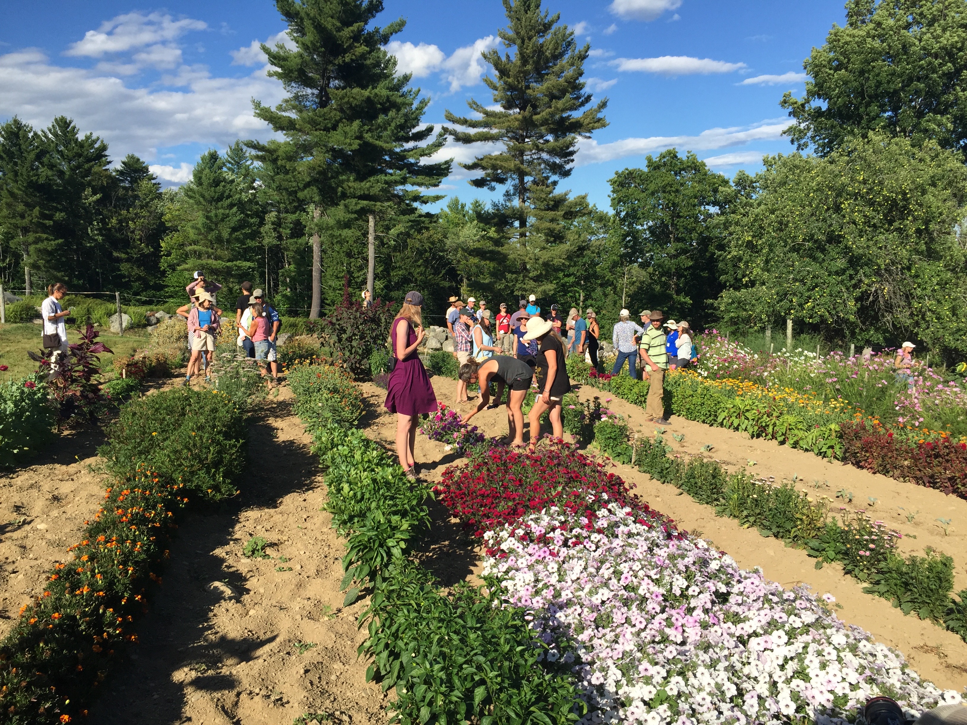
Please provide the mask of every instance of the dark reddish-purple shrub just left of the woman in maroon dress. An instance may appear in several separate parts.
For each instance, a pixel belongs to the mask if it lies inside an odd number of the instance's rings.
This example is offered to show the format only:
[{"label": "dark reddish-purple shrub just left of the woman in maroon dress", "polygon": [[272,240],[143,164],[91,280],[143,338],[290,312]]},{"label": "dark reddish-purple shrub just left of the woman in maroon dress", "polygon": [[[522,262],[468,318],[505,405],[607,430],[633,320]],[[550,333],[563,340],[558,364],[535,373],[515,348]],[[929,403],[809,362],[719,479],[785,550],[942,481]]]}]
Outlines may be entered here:
[{"label": "dark reddish-purple shrub just left of the woman in maroon dress", "polygon": [[357,378],[368,377],[369,356],[385,344],[395,310],[394,305],[380,300],[368,307],[339,304],[319,321],[319,334],[339,364]]}]

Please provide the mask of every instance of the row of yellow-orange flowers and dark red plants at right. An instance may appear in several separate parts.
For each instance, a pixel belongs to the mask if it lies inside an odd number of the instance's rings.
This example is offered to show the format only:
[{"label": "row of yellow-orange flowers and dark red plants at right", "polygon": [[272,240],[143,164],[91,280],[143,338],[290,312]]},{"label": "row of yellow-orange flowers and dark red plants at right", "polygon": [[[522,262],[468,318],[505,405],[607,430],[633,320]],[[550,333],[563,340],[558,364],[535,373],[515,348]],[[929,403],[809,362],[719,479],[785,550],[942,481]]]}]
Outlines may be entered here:
[{"label": "row of yellow-orange flowers and dark red plants at right", "polygon": [[[644,406],[648,381],[598,375],[571,359],[571,380]],[[872,473],[967,499],[967,443],[945,435],[923,438],[911,428],[888,428],[837,401],[775,391],[753,383],[710,380],[689,370],[665,377],[665,410],[687,420],[745,432],[835,458]]]}]

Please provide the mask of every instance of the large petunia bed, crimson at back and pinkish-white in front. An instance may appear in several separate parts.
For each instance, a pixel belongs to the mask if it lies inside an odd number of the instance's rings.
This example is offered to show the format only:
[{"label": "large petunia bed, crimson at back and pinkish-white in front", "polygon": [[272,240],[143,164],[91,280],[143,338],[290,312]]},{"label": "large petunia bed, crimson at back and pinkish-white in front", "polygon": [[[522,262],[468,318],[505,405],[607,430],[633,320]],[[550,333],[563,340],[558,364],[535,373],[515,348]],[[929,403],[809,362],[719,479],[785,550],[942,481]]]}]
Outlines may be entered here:
[{"label": "large petunia bed, crimson at back and pinkish-white in front", "polygon": [[484,572],[533,618],[543,661],[571,668],[582,722],[852,721],[875,694],[916,711],[960,701],[827,602],[677,530],[581,453],[491,449],[436,492],[483,536]]}]

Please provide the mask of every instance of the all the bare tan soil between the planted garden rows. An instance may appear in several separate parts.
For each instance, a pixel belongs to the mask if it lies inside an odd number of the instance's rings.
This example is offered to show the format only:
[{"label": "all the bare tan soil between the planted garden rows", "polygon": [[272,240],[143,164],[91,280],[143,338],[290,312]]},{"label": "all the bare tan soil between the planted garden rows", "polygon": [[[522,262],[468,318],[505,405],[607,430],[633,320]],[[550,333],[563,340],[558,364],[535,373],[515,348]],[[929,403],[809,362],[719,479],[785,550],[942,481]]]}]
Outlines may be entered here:
[{"label": "all the bare tan soil between the planted garden rows", "polygon": [[[450,404],[454,381],[434,378],[433,383],[438,398]],[[385,393],[368,384],[363,390],[369,406],[361,425],[392,448],[396,417],[382,407]],[[581,392],[593,394],[601,393]],[[654,433],[654,426],[644,425],[640,409],[618,399],[608,404],[641,433]],[[304,713],[344,723],[386,722],[386,696],[378,685],[366,683],[368,663],[357,656],[366,638],[365,629],[357,628],[366,600],[341,606],[344,549],[330,515],[320,510],[325,487],[291,405],[291,392],[282,388],[256,412],[241,495],[220,507],[195,511],[182,522],[161,587],[152,593],[149,614],[138,627],[140,643],[119,652],[120,661],[91,708],[91,722],[288,725]],[[507,432],[504,409],[484,411],[474,423],[487,435]],[[929,543],[951,554],[958,586],[964,586],[967,551],[964,535],[955,527],[959,522],[967,528],[967,502],[700,423],[675,419],[668,432],[685,435],[681,445],[670,435],[666,440],[686,453],[701,453],[702,446],[711,444],[714,448],[706,454],[730,470],[753,459],[751,470],[757,475],[777,480],[795,475],[810,495],[835,496],[836,490],[846,488],[854,493],[854,507],[867,496],[878,498],[874,511],[884,510],[888,523],[904,535],[917,536],[904,539],[904,547],[909,546],[905,550],[917,551]],[[67,556],[65,549],[83,521],[97,510],[102,477],[88,471],[87,464],[97,463],[94,449],[99,442],[96,433],[68,436],[51,449],[50,462],[0,478],[0,517],[17,521],[0,529],[0,556],[5,557],[0,604],[6,617],[16,616],[50,565]],[[416,452],[427,485],[459,462],[454,453],[423,436],[417,437]],[[617,466],[615,471],[645,501],[682,528],[700,532],[740,565],[761,566],[783,586],[805,583],[817,594],[834,594],[842,620],[903,652],[923,677],[945,688],[967,685],[967,645],[959,637],[903,616],[890,602],[863,594],[837,566],[816,570],[815,560],[804,552],[717,517],[711,507],[673,486],[630,467]],[[820,481],[819,489],[814,479]],[[829,489],[823,481],[829,481]],[[836,505],[847,504],[836,500]],[[900,506],[920,513],[909,524],[906,516],[886,515]],[[475,580],[481,567],[474,541],[443,507],[434,505],[431,513],[433,530],[418,556],[444,586]],[[938,517],[953,519],[950,536],[931,526]],[[47,529],[37,528],[44,523]],[[271,559],[242,555],[251,536],[269,540]],[[9,625],[9,619],[0,621],[0,627]]]}]

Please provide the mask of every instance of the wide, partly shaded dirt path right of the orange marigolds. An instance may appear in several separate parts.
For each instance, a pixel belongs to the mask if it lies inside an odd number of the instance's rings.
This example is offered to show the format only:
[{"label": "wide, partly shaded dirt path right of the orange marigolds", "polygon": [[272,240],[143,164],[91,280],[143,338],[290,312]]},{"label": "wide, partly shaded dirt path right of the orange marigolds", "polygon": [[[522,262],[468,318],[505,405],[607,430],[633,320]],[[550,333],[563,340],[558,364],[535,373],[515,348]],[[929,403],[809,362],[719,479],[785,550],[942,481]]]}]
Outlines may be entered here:
[{"label": "wide, partly shaded dirt path right of the orange marigolds", "polygon": [[[140,645],[116,663],[91,722],[386,721],[356,654],[364,603],[341,607],[343,547],[319,510],[317,458],[288,389],[269,400],[253,416],[242,494],[182,523]],[[242,556],[251,536],[269,540],[272,559]]]}]

